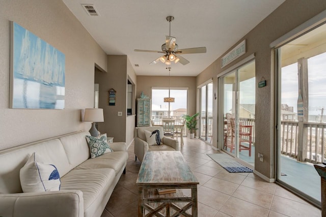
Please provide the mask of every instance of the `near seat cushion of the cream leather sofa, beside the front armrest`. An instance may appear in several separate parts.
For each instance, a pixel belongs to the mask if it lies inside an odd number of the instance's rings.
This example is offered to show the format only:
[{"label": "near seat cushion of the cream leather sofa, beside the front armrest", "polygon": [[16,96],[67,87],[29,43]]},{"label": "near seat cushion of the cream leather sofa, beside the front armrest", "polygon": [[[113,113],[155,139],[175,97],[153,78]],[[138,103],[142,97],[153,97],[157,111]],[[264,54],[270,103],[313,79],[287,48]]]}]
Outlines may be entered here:
[{"label": "near seat cushion of the cream leather sofa, beside the front armrest", "polygon": [[[61,190],[83,192],[84,213],[95,213],[98,204],[105,198],[108,188],[114,182],[113,169],[71,170],[61,178]],[[85,215],[87,216],[87,215]]]}]

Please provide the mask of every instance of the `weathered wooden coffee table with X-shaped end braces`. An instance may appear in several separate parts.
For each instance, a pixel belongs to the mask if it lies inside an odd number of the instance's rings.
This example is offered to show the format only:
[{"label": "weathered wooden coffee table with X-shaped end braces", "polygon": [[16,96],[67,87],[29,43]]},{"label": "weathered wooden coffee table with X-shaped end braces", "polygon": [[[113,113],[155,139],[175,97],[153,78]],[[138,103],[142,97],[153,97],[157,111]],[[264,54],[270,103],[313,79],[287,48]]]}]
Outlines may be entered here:
[{"label": "weathered wooden coffee table with X-shaped end braces", "polygon": [[[147,151],[139,170],[138,216],[198,216],[197,178],[188,167],[180,151]],[[157,189],[191,189],[191,197],[182,194],[147,194]],[[159,204],[153,207],[151,204]],[[180,203],[185,204],[179,207]],[[192,208],[192,214],[186,211]],[[145,210],[148,211],[145,215]],[[166,214],[161,211],[165,210]],[[170,215],[170,213],[173,213]]]}]

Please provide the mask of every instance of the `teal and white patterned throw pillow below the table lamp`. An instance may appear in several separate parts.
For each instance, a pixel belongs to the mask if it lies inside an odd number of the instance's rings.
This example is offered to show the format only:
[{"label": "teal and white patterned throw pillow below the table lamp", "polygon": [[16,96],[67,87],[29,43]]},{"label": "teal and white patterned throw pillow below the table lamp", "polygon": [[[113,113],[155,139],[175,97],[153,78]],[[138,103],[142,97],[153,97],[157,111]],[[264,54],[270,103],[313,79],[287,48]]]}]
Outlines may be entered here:
[{"label": "teal and white patterned throw pillow below the table lamp", "polygon": [[86,136],[86,140],[88,146],[90,146],[91,158],[97,158],[107,152],[113,152],[112,148],[107,144],[106,136],[102,136],[101,138]]}]

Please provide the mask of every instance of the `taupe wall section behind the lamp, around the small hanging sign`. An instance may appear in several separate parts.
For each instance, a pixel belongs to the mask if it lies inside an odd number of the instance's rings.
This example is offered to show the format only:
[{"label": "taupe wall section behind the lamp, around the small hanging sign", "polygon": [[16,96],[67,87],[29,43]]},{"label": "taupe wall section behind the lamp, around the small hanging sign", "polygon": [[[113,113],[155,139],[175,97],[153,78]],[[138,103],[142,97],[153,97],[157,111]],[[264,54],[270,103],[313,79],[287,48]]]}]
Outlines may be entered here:
[{"label": "taupe wall section behind the lamp, around the small hanging sign", "polygon": [[[98,124],[101,133],[114,137],[115,142],[129,145],[134,138],[134,115],[127,116],[127,81],[136,84],[135,75],[126,55],[107,55],[107,73],[96,73],[99,83],[99,108],[103,108],[104,122]],[[108,105],[108,90],[115,89],[116,105]],[[122,116],[118,116],[118,112]],[[130,130],[132,129],[132,130]]]}]

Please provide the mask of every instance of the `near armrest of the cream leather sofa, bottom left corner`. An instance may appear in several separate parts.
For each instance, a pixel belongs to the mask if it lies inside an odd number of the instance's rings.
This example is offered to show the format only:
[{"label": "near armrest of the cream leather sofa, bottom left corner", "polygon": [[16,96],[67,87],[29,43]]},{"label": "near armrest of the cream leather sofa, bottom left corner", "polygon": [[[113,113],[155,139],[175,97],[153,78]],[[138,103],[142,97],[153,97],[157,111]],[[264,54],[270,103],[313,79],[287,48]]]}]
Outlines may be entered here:
[{"label": "near armrest of the cream leather sofa, bottom left corner", "polygon": [[84,216],[79,190],[0,194],[0,204],[0,216]]}]

